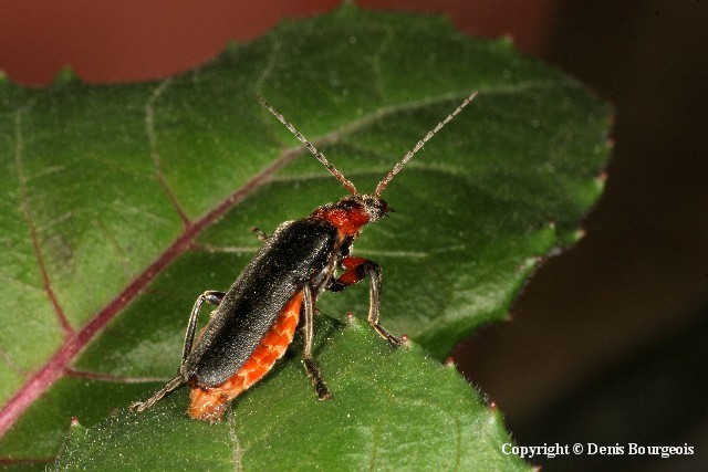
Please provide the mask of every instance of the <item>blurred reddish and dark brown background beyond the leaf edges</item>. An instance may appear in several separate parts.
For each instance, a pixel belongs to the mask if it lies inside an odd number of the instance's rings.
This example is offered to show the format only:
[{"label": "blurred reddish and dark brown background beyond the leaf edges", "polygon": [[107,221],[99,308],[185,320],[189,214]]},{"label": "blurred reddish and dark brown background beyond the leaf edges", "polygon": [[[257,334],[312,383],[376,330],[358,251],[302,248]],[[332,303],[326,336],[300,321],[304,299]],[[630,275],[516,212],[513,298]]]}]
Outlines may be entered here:
[{"label": "blurred reddish and dark brown background beyond the leaf edges", "polygon": [[[0,2],[0,70],[41,86],[66,64],[115,83],[170,75],[335,0]],[[510,34],[616,108],[586,235],[452,353],[520,444],[683,445],[693,457],[534,459],[543,470],[708,470],[708,4],[700,0],[360,0]]]}]

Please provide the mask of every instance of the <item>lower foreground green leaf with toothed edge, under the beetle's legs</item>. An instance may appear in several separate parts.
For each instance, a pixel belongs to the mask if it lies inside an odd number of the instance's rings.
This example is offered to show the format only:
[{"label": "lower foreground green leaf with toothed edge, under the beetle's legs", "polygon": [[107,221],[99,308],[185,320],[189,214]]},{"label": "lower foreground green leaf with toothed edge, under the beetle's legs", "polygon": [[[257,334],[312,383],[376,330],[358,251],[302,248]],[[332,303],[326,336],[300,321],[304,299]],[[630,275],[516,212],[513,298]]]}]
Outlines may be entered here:
[{"label": "lower foreground green leaf with toothed edge, under the beetle's legs", "polygon": [[73,428],[54,470],[529,469],[500,457],[509,442],[500,415],[455,367],[416,346],[394,349],[366,323],[342,328],[330,318],[317,328],[331,400],[317,401],[300,363],[289,361],[218,424],[185,417],[185,389],[144,415]]}]

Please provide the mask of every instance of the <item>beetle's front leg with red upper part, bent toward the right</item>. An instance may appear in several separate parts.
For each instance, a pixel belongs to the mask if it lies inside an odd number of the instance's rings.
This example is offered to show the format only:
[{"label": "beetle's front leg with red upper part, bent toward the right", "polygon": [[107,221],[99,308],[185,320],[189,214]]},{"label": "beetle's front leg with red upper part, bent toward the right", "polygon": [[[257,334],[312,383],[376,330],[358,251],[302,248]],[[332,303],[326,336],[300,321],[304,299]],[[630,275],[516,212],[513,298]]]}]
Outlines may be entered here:
[{"label": "beetle's front leg with red upper part, bent toward the right", "polygon": [[368,259],[348,256],[342,259],[342,266],[345,269],[345,272],[340,275],[332,285],[330,285],[330,290],[332,292],[341,292],[344,289],[361,282],[362,279],[368,275],[368,324],[372,325],[381,337],[387,339],[394,346],[400,346],[400,338],[391,334],[391,332],[383,327],[378,322],[382,286],[381,265],[374,261],[369,261]]}]

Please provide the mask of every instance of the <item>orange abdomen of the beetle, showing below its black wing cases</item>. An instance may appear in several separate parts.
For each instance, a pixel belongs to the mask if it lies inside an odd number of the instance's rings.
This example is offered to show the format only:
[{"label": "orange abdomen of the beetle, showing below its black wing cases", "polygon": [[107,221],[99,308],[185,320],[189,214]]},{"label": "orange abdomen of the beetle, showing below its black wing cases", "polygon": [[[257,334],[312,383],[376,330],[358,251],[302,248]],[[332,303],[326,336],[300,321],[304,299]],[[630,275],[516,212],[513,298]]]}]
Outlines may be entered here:
[{"label": "orange abdomen of the beetle, showing below its black wing cases", "polygon": [[219,421],[229,401],[238,397],[273,367],[292,342],[300,318],[302,292],[285,305],[251,357],[228,380],[217,387],[192,386],[189,416],[197,420]]}]

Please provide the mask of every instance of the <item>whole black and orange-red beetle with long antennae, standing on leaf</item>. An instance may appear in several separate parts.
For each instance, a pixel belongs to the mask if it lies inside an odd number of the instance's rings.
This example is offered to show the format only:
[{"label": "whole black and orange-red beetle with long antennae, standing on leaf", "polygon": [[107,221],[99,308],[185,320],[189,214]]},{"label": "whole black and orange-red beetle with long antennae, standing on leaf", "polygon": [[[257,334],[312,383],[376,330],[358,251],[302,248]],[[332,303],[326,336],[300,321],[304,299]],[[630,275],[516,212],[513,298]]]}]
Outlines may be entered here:
[{"label": "whole black and orange-red beetle with long antennae, standing on leaf", "polygon": [[[227,292],[207,291],[196,301],[183,348],[179,375],[146,401],[131,405],[144,411],[183,384],[190,387],[188,413],[219,421],[230,401],[260,380],[283,356],[304,314],[303,364],[321,400],[332,396],[312,355],[314,305],[324,291],[339,292],[369,280],[368,324],[393,346],[402,339],[379,323],[381,266],[351,255],[352,244],[368,223],[393,211],[382,192],[413,156],[477,95],[469,95],[429,130],[378,182],[373,195],[360,193],[312,143],[260,95],[258,99],[322,162],[350,195],[316,208],[309,217],[287,221],[272,235],[253,228],[263,245]],[[337,275],[341,271],[341,275]],[[201,306],[216,305],[196,336]],[[196,342],[195,342],[196,338]]]}]

